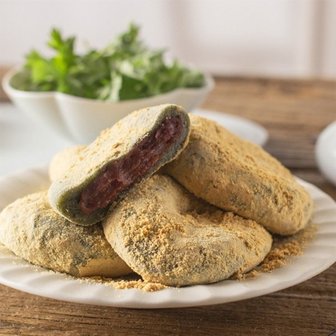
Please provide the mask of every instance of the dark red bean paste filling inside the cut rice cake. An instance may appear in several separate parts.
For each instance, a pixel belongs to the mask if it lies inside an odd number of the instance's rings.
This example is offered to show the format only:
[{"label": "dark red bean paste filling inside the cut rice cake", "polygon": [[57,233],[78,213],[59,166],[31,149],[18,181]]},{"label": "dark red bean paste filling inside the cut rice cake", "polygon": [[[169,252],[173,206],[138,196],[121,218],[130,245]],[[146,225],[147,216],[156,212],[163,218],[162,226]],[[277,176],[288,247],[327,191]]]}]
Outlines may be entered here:
[{"label": "dark red bean paste filling inside the cut rice cake", "polygon": [[179,116],[165,119],[124,158],[107,165],[82,191],[79,201],[81,211],[90,215],[112,203],[120,192],[126,190],[160,161],[181,136],[182,126]]}]

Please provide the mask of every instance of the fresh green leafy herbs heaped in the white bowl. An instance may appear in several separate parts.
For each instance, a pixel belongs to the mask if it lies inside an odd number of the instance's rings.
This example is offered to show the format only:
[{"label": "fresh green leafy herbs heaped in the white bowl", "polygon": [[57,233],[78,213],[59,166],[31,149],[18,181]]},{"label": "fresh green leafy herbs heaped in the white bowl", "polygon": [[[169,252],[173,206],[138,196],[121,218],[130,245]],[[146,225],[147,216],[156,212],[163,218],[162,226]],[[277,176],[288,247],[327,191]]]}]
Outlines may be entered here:
[{"label": "fresh green leafy herbs heaped in the white bowl", "polygon": [[176,88],[204,85],[204,76],[177,60],[165,61],[164,50],[148,48],[139,38],[139,27],[128,30],[102,50],[75,52],[75,37],[64,38],[52,29],[50,58],[32,50],[24,68],[11,81],[25,91],[59,91],[101,100],[129,100],[155,96]]}]

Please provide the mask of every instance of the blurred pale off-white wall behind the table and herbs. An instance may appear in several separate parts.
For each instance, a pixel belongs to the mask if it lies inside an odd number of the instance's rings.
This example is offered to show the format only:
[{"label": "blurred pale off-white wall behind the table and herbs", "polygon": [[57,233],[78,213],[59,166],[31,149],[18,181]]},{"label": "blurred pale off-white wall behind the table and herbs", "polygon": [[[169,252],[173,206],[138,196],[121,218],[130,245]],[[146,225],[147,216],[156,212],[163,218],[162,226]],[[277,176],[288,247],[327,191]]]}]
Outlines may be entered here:
[{"label": "blurred pale off-white wall behind the table and herbs", "polygon": [[44,50],[52,26],[85,49],[130,21],[150,46],[214,75],[336,77],[334,0],[0,0],[0,68]]}]

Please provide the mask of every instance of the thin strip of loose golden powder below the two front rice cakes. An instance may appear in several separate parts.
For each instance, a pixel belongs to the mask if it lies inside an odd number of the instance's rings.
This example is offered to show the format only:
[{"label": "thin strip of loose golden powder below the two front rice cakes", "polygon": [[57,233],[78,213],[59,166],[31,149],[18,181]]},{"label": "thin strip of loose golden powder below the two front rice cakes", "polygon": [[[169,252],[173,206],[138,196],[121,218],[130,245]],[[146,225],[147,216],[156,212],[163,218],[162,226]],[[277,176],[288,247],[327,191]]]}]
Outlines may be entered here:
[{"label": "thin strip of loose golden powder below the two front rice cakes", "polygon": [[115,289],[140,289],[145,292],[156,292],[168,288],[168,286],[160,283],[144,281],[137,274],[131,274],[116,279],[104,277],[81,278],[80,281],[90,284],[102,284],[105,286],[111,286]]}]

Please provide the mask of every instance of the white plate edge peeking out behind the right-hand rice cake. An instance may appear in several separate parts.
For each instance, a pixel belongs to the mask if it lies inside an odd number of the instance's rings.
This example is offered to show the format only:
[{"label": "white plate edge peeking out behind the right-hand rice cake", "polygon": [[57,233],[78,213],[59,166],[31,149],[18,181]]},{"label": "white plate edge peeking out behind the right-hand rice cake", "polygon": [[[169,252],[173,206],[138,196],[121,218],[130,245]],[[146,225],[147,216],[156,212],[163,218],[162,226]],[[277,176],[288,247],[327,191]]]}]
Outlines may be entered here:
[{"label": "white plate edge peeking out behind the right-hand rice cake", "polygon": [[268,139],[268,132],[266,129],[252,120],[234,116],[232,114],[204,109],[196,109],[193,113],[204,118],[212,119],[232,133],[257,145],[265,145]]}]

